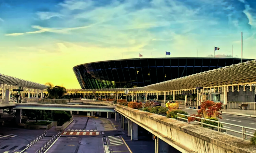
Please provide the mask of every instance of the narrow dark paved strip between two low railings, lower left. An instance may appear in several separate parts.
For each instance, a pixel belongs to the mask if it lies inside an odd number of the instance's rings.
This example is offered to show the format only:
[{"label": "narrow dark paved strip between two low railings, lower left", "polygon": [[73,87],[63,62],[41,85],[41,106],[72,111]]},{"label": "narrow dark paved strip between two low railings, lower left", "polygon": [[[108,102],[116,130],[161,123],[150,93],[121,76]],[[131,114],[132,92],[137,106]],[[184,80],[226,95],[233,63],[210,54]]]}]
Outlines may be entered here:
[{"label": "narrow dark paved strip between two low railings, lower left", "polygon": [[[43,130],[42,130],[43,132]],[[48,141],[52,136],[57,134],[58,131],[55,130],[55,126],[53,126],[51,129],[47,130],[47,134],[45,137],[43,137],[41,140],[37,141],[33,146],[31,146],[29,149],[27,149],[27,153],[35,153],[37,150],[42,147],[46,141]]]}]

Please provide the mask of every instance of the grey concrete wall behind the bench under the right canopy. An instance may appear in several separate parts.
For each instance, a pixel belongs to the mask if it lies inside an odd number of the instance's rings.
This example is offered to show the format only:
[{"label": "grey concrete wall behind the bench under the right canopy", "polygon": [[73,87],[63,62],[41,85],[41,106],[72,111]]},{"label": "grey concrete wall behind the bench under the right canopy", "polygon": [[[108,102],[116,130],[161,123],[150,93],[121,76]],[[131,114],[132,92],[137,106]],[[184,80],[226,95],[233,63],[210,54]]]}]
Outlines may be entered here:
[{"label": "grey concrete wall behind the bench under the right canopy", "polygon": [[252,87],[252,91],[246,89],[243,91],[243,86],[239,87],[239,92],[234,90],[234,92],[228,92],[229,102],[255,102],[255,88]]}]

